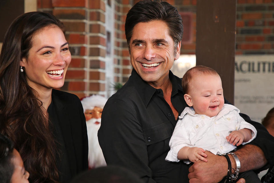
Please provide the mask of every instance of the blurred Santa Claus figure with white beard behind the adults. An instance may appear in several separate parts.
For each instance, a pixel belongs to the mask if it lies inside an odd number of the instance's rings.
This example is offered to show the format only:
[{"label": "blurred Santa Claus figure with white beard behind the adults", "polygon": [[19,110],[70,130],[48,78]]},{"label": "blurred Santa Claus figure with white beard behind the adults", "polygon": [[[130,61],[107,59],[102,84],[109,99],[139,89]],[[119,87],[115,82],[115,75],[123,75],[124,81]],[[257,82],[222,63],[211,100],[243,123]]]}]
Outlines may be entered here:
[{"label": "blurred Santa Claus figure with white beard behind the adults", "polygon": [[97,132],[101,125],[101,115],[107,99],[100,95],[92,95],[81,100],[86,117],[88,132],[88,166],[96,168],[106,166],[102,149],[100,148]]}]

